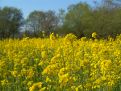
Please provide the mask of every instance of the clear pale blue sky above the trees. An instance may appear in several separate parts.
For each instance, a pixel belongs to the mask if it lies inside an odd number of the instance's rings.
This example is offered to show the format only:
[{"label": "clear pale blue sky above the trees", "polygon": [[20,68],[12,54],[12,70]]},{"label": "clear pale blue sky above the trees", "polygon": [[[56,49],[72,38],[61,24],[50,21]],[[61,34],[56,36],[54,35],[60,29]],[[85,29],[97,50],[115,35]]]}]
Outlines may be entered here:
[{"label": "clear pale blue sky above the trees", "polygon": [[0,0],[0,7],[9,6],[21,9],[23,16],[26,18],[34,10],[66,10],[71,4],[87,2],[93,4],[94,0]]}]

